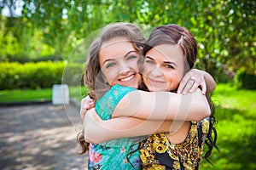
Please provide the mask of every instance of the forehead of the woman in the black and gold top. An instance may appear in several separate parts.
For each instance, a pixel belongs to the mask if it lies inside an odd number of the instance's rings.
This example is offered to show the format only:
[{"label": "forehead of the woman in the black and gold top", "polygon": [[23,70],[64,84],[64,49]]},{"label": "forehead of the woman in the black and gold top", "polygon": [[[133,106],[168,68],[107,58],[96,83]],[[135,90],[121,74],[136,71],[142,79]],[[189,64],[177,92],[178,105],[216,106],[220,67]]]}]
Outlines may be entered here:
[{"label": "forehead of the woman in the black and gold top", "polygon": [[159,61],[180,61],[183,62],[184,56],[176,44],[160,44],[151,48],[146,56]]}]

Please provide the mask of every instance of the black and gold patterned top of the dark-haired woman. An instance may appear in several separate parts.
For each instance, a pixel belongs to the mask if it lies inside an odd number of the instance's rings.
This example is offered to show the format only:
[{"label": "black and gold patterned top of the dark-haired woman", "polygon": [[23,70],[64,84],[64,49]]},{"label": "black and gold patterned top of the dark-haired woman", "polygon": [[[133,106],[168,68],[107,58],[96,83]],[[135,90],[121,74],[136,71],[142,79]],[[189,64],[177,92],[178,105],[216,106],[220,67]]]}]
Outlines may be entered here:
[{"label": "black and gold patterned top of the dark-haired woman", "polygon": [[180,144],[171,144],[165,133],[154,133],[141,144],[143,169],[198,169],[209,119],[191,122],[188,136]]}]

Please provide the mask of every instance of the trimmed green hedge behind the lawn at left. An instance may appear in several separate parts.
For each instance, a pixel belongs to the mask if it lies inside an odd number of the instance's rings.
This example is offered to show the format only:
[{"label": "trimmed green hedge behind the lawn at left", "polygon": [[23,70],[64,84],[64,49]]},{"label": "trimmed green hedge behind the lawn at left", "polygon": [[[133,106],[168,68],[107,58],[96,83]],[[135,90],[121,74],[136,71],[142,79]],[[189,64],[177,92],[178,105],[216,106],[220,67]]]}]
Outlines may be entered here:
[{"label": "trimmed green hedge behind the lawn at left", "polygon": [[[68,65],[69,70],[79,70],[83,65]],[[0,90],[16,88],[51,88],[60,84],[65,64],[63,61],[42,61],[20,64],[0,62]],[[77,80],[74,80],[77,81]],[[69,84],[77,82],[69,81]]]}]

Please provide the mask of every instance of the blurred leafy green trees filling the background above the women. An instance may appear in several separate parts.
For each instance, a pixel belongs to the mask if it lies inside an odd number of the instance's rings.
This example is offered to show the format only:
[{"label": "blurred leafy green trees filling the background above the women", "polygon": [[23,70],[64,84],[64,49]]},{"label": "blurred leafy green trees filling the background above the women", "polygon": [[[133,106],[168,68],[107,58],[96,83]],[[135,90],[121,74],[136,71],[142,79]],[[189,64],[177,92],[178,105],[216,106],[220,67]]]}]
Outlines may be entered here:
[{"label": "blurred leafy green trees filling the background above the women", "polygon": [[[15,14],[17,3],[21,14]],[[145,26],[175,23],[195,35],[197,68],[218,82],[234,76],[255,82],[256,21],[251,0],[3,0],[9,16],[0,17],[1,61],[67,59],[81,39],[108,23]],[[250,80],[250,81],[249,81]]]}]

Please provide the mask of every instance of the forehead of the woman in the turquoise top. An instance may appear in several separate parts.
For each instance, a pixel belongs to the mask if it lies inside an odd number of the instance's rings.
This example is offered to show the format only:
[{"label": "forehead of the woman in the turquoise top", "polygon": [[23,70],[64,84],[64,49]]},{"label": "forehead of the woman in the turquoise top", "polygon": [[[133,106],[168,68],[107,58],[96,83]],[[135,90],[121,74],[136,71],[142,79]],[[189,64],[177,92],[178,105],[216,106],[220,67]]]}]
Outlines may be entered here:
[{"label": "forehead of the woman in the turquoise top", "polygon": [[100,61],[106,59],[116,59],[124,56],[130,51],[135,51],[132,43],[125,37],[114,37],[107,42],[102,43],[99,56]]}]

